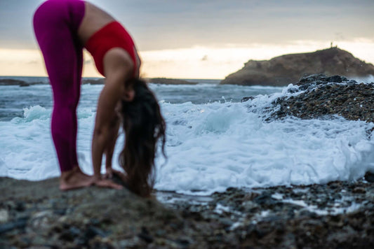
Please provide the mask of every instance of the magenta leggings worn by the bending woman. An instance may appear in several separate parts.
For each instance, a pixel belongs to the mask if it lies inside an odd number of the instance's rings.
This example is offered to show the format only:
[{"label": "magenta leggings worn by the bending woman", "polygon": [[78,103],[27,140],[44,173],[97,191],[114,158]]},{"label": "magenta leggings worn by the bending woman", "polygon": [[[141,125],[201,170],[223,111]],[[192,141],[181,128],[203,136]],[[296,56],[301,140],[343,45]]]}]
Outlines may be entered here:
[{"label": "magenta leggings worn by the bending woman", "polygon": [[61,171],[78,166],[76,106],[81,92],[83,46],[77,31],[84,1],[48,0],[34,14],[36,40],[53,90],[51,131]]}]

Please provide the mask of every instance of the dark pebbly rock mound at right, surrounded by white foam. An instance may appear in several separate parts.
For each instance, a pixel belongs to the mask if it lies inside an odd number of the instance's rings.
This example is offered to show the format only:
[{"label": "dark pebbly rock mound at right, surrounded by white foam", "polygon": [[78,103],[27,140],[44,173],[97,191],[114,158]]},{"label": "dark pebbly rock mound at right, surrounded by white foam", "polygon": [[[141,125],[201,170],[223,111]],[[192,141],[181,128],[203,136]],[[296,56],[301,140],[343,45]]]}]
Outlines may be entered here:
[{"label": "dark pebbly rock mound at right, surrounded by white foam", "polygon": [[274,106],[279,107],[274,117],[293,115],[310,119],[340,115],[347,120],[374,121],[374,83],[359,84],[342,76],[317,74],[301,78],[297,85],[300,87],[288,91],[303,91],[301,94],[274,101]]}]

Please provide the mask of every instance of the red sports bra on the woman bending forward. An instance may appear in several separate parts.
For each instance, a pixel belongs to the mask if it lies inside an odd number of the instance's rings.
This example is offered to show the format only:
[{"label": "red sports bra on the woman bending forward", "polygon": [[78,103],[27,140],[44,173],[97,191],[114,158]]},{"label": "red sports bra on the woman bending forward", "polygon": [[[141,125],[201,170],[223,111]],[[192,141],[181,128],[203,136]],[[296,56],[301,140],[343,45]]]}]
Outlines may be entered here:
[{"label": "red sports bra on the woman bending forward", "polygon": [[96,68],[104,76],[104,56],[112,48],[123,48],[128,52],[134,63],[134,76],[137,71],[137,62],[135,55],[135,45],[130,34],[119,22],[109,22],[101,29],[95,32],[85,45],[88,52],[95,60]]}]

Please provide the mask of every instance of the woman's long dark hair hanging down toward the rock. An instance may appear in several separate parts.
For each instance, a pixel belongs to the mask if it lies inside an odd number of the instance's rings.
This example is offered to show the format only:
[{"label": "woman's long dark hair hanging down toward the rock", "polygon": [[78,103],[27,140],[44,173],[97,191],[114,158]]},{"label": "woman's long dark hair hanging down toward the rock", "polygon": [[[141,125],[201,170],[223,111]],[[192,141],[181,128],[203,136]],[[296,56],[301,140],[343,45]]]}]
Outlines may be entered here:
[{"label": "woman's long dark hair hanging down toward the rock", "polygon": [[149,197],[154,185],[154,158],[157,142],[165,154],[166,123],[154,93],[143,80],[128,82],[135,90],[133,101],[122,101],[125,145],[119,155],[119,164],[126,171],[128,187],[142,197]]}]

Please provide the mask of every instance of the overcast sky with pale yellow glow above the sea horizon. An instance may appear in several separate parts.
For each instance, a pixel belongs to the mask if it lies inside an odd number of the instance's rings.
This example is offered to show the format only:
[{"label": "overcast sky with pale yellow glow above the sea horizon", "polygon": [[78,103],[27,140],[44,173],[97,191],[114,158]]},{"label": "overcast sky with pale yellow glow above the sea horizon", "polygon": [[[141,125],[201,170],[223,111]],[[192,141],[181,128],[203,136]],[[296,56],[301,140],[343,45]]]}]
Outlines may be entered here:
[{"label": "overcast sky with pale yellow glow above the sea horizon", "polygon": [[[32,32],[32,15],[42,2],[0,0],[0,75],[14,74],[4,66],[10,64],[9,60],[17,63],[14,57],[8,58],[15,52],[20,64],[29,60],[40,67],[39,74],[44,73],[41,59],[35,55],[38,47]],[[130,31],[147,76],[223,78],[248,59],[312,52],[328,48],[330,42],[374,62],[373,0],[91,2],[114,15]],[[23,57],[22,51],[26,52]],[[86,56],[86,62],[92,66],[91,57]],[[94,75],[93,71],[87,69],[86,76]],[[214,76],[215,71],[220,73]],[[25,69],[19,74],[30,73]]]}]

